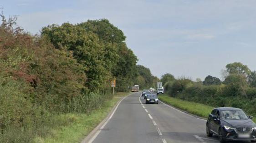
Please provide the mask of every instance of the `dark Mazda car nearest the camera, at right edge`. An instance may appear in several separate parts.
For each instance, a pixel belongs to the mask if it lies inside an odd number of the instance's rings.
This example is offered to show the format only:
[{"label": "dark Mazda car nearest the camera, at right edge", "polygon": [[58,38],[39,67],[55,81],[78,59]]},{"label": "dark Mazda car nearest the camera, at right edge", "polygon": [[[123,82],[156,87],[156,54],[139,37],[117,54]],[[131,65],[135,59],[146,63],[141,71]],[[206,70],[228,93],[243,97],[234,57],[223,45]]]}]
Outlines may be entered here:
[{"label": "dark Mazda car nearest the camera, at right edge", "polygon": [[212,110],[206,122],[206,134],[218,135],[220,143],[225,141],[256,142],[256,124],[239,108],[220,107]]}]

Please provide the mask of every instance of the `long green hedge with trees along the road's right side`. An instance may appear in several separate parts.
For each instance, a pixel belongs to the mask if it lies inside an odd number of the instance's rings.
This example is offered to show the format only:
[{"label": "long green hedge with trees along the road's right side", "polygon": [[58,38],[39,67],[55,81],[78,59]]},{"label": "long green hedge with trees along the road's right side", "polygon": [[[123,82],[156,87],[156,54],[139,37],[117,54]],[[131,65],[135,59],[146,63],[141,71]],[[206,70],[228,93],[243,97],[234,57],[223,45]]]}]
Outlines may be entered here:
[{"label": "long green hedge with trees along the road's right side", "polygon": [[[237,107],[246,111],[247,114],[256,116],[256,71],[251,71],[240,62],[227,64],[223,72],[224,81],[213,76],[205,77],[204,81],[181,77],[174,79],[171,74],[162,76],[165,93],[170,97],[208,105],[210,107]],[[166,98],[165,96],[160,98]],[[189,103],[190,103],[189,102]],[[195,114],[205,117],[206,113],[199,113],[197,105],[189,105]],[[173,103],[172,103],[173,104]],[[179,103],[178,103],[179,104]],[[181,107],[181,109],[187,107]],[[207,109],[207,108],[206,108]],[[202,110],[204,110],[202,108]]]}]

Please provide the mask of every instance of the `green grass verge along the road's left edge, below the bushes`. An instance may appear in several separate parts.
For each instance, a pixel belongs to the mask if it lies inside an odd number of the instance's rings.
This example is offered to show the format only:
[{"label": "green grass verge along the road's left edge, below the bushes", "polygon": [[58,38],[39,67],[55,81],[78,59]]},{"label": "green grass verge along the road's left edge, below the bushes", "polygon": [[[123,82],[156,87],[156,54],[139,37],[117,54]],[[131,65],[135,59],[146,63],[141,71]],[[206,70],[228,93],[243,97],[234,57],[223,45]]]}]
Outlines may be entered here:
[{"label": "green grass verge along the road's left edge, below the bushes", "polygon": [[46,138],[36,137],[36,143],[80,143],[103,119],[107,117],[114,105],[121,97],[129,93],[118,92],[112,100],[104,102],[100,109],[91,114],[60,114],[54,117],[54,121],[67,124],[51,130],[51,135]]}]

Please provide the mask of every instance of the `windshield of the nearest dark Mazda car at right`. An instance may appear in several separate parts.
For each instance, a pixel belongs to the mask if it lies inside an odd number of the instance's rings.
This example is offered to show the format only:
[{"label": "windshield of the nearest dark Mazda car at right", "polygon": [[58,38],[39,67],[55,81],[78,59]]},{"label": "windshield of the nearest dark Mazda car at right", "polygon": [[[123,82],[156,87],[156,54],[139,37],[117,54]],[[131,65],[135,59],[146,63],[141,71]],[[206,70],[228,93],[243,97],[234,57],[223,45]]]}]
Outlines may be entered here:
[{"label": "windshield of the nearest dark Mazda car at right", "polygon": [[222,119],[248,119],[242,110],[224,110],[221,111]]}]

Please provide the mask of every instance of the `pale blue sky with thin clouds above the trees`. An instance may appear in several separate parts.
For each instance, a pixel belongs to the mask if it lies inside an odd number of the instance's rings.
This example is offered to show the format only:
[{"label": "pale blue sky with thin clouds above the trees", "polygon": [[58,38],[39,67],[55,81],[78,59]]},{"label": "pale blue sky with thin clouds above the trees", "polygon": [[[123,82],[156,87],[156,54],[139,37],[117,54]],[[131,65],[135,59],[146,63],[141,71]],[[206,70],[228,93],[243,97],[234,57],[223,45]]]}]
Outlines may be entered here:
[{"label": "pale blue sky with thin clouds above the trees", "polygon": [[0,0],[5,16],[33,34],[48,24],[108,19],[159,78],[193,80],[232,62],[256,70],[256,0]]}]

